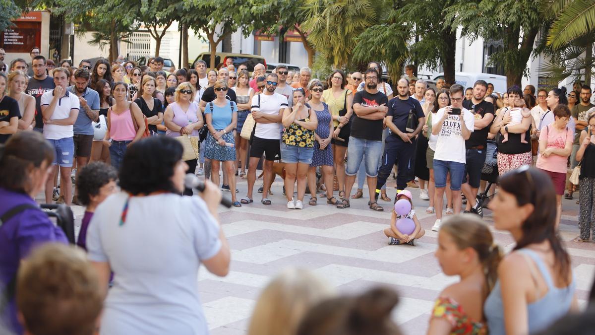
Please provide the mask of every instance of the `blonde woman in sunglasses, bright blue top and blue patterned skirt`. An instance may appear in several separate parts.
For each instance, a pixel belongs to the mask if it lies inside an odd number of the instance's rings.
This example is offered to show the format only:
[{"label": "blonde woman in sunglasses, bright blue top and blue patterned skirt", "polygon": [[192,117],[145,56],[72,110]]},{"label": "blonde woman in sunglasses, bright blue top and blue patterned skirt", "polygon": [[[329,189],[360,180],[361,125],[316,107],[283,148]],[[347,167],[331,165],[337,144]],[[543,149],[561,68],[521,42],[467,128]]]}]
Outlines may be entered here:
[{"label": "blonde woman in sunglasses, bright blue top and blue patterned skirt", "polygon": [[[211,159],[211,180],[219,185],[219,166],[223,162],[228,176],[235,176],[236,142],[234,132],[237,124],[237,106],[226,98],[227,81],[219,79],[213,86],[217,98],[206,104],[205,121],[209,134],[205,139],[205,158]],[[236,178],[229,178],[233,206],[242,207],[236,200]]]}]

